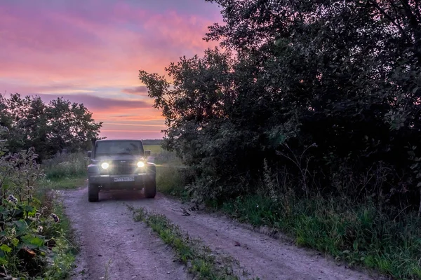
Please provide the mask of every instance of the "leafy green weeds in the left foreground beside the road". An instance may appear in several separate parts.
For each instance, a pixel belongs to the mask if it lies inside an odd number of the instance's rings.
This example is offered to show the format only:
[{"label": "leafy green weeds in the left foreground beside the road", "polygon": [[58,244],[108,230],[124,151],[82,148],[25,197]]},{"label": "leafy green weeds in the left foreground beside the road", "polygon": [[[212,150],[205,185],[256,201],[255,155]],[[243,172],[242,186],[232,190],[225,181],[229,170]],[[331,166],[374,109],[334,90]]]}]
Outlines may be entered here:
[{"label": "leafy green weeds in the left foreground beside the road", "polygon": [[34,148],[0,155],[0,275],[62,279],[72,263],[70,244],[56,208],[36,198],[44,178],[36,156]]}]

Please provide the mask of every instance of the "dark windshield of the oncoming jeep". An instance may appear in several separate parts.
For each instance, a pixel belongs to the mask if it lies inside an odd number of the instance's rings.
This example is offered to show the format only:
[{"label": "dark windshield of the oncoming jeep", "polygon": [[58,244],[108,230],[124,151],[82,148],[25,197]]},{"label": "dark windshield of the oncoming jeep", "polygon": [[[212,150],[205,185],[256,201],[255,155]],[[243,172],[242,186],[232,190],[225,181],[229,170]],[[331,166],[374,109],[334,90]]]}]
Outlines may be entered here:
[{"label": "dark windshield of the oncoming jeep", "polygon": [[143,155],[140,141],[101,141],[95,146],[95,157],[101,155]]}]

